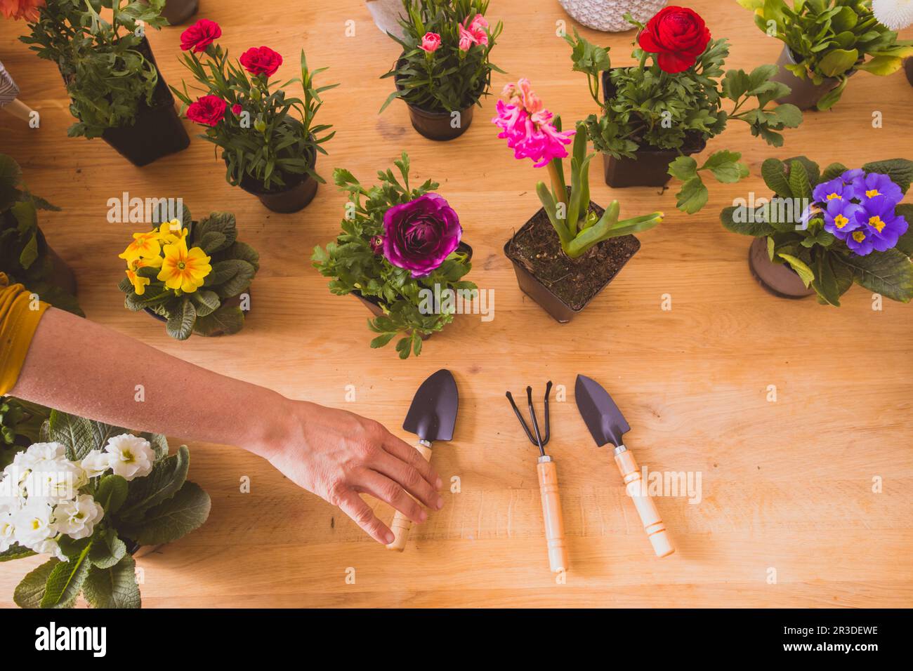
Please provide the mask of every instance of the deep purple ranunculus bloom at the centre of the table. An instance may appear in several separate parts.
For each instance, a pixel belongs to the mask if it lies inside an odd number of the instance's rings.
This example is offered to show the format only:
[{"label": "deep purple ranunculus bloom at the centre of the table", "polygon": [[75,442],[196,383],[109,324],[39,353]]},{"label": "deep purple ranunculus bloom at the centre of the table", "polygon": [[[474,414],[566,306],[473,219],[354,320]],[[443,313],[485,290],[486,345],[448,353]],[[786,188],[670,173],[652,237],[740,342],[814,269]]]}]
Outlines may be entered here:
[{"label": "deep purple ranunculus bloom at the centre of the table", "polygon": [[459,217],[438,194],[420,195],[383,214],[383,256],[414,278],[430,275],[459,245]]}]

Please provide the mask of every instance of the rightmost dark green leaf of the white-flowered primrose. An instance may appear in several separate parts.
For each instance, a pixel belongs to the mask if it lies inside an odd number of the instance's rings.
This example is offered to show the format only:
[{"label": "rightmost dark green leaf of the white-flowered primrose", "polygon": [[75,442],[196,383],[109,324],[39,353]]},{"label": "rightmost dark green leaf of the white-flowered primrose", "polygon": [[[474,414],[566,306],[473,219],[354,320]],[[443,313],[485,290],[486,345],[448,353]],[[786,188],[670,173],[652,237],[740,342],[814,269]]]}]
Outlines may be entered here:
[{"label": "rightmost dark green leaf of the white-flowered primrose", "polygon": [[172,498],[148,509],[142,522],[126,524],[123,532],[140,545],[170,543],[198,529],[209,517],[210,506],[209,495],[203,488],[185,482]]}]

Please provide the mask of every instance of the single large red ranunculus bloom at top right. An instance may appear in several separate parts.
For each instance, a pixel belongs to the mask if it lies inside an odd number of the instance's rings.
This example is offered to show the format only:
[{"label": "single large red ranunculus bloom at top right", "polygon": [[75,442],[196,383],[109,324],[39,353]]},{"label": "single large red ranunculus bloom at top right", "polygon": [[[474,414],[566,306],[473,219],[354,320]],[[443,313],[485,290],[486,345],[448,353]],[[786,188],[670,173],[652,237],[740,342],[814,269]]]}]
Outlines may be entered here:
[{"label": "single large red ranunculus bloom at top right", "polygon": [[670,73],[693,66],[709,41],[704,19],[692,9],[677,6],[659,11],[637,36],[640,47],[656,54],[659,68]]}]

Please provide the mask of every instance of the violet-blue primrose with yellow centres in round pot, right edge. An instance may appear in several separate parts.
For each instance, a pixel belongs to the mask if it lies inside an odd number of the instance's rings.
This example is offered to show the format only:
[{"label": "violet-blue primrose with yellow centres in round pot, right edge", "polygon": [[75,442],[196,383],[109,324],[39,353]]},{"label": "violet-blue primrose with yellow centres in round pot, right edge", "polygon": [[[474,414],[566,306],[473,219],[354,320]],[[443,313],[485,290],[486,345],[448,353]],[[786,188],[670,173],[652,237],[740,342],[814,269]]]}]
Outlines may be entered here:
[{"label": "violet-blue primrose with yellow centres in round pot, right edge", "polygon": [[913,298],[913,204],[901,200],[913,161],[892,159],[821,172],[804,156],[767,159],[761,173],[771,200],[727,207],[720,220],[753,236],[749,263],[763,288],[782,298],[817,294],[840,305],[859,284],[888,299]]}]

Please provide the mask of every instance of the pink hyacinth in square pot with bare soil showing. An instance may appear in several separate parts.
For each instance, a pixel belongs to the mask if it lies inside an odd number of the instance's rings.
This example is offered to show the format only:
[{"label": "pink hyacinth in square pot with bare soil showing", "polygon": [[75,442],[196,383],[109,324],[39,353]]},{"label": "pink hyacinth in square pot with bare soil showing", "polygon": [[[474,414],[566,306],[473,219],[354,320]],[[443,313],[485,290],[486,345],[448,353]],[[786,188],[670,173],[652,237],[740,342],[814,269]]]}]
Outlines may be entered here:
[{"label": "pink hyacinth in square pot with bare soil showing", "polygon": [[[498,100],[492,121],[507,138],[517,159],[529,158],[534,167],[548,166],[551,190],[536,184],[542,208],[522,225],[504,246],[504,254],[517,273],[519,288],[560,322],[572,320],[624,264],[635,255],[640,242],[632,234],[652,228],[663,215],[619,220],[613,201],[605,210],[590,200],[590,162],[582,122],[576,131],[561,131],[561,120],[544,109],[528,79],[508,84],[507,102]],[[561,159],[572,142],[571,184],[564,179]]]}]

